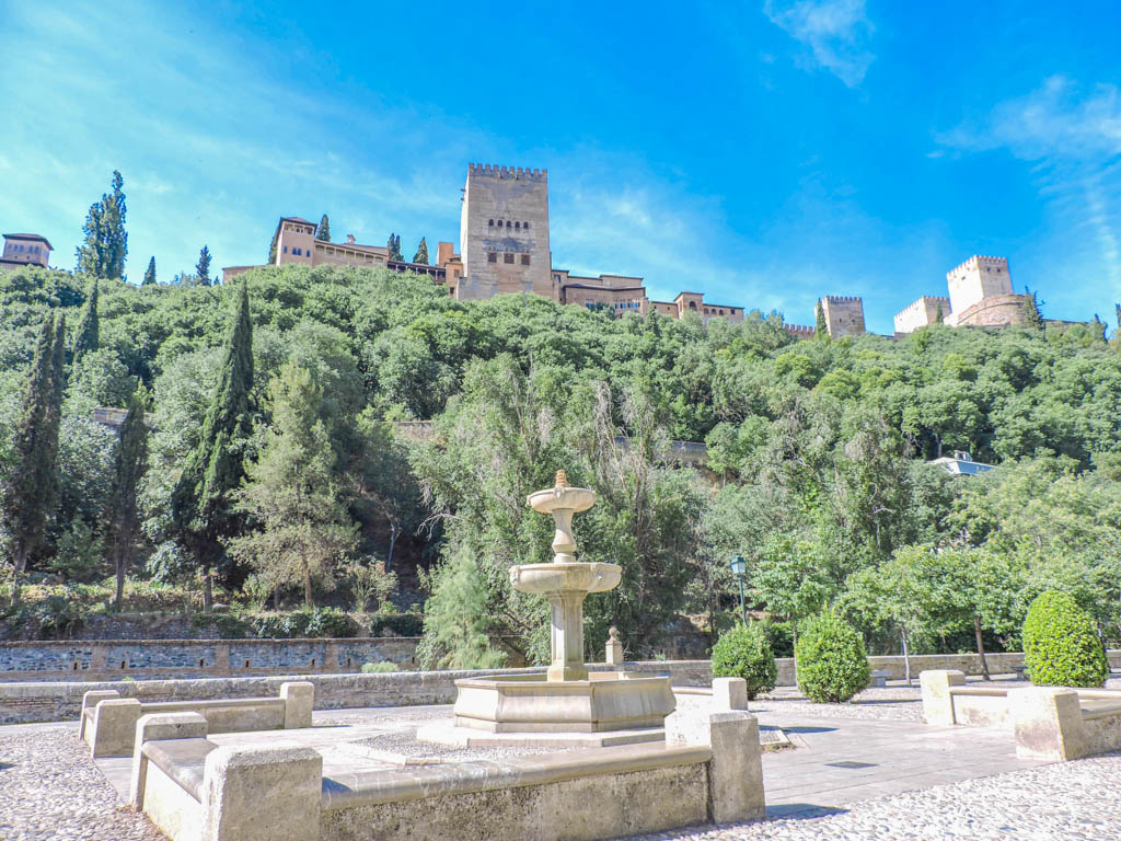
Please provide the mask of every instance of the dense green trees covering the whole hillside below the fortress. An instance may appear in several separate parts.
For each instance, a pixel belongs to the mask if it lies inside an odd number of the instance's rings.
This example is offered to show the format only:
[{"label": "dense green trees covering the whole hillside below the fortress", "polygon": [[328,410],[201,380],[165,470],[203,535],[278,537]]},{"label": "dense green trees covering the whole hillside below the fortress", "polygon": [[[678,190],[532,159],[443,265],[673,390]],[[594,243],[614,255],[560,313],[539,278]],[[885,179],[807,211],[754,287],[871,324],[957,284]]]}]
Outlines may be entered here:
[{"label": "dense green trees covering the whole hillside below the fortress", "polygon": [[[314,385],[296,437],[314,437],[330,521],[355,527],[312,576],[314,601],[427,598],[430,663],[547,658],[547,604],[512,591],[507,569],[548,558],[547,518],[525,498],[558,468],[600,497],[576,518],[580,554],[624,567],[586,602],[590,651],[614,625],[649,656],[683,616],[715,638],[736,612],[731,555],[749,562],[749,607],[788,623],[834,606],[877,651],[1018,646],[1046,589],[1118,636],[1121,354],[1100,327],[805,342],[777,314],[705,326],[532,295],[456,302],[386,270],[242,277],[244,297],[100,281],[99,346],[66,366],[58,495],[33,576],[111,571],[119,444],[91,413],[127,406],[139,379],[151,434],[130,569],[188,589],[211,571],[245,603],[302,600],[300,576],[270,582],[233,552],[272,530],[239,500],[271,481],[258,468],[285,414],[270,383],[295,366]],[[91,288],[36,267],[0,275],[4,428],[18,428],[37,333],[57,312],[76,324]],[[432,437],[399,424],[411,420],[430,420]],[[706,469],[679,466],[675,440],[707,444]],[[0,481],[15,481],[17,443],[0,440]],[[1000,469],[955,478],[925,463],[953,450]]]}]

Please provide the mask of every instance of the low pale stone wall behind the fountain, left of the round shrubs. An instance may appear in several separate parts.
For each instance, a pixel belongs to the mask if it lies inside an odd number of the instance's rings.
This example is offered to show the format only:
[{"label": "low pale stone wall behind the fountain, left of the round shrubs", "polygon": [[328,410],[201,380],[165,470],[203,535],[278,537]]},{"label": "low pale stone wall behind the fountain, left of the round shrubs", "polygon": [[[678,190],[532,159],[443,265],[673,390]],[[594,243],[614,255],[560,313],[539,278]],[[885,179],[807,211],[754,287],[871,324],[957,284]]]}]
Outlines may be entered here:
[{"label": "low pale stone wall behind the fountain, left of the round shrubs", "polygon": [[[604,664],[591,664],[606,671]],[[669,674],[675,685],[706,686],[711,682],[707,660],[652,660],[628,663],[629,672]],[[315,685],[315,706],[339,710],[358,706],[415,706],[455,701],[455,681],[493,674],[544,673],[539,668],[461,672],[391,672],[388,674],[299,675]],[[76,719],[82,695],[112,690],[121,697],[142,702],[260,697],[275,695],[280,684],[296,675],[172,681],[20,682],[0,683],[0,724]]]}]

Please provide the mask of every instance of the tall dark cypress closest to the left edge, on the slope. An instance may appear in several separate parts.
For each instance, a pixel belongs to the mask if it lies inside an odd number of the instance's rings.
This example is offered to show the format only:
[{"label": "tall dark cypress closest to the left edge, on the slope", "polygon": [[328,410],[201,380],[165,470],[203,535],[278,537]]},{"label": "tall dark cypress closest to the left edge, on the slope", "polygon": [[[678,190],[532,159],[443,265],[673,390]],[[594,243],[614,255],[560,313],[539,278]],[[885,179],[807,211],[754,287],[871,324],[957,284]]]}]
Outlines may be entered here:
[{"label": "tall dark cypress closest to the left edge, on the slope", "polygon": [[[28,560],[43,544],[47,521],[58,505],[58,419],[62,390],[56,385],[61,367],[56,345],[59,325],[45,318],[35,346],[35,359],[24,389],[22,409],[12,441],[13,463],[0,488],[0,515],[11,539],[12,604]],[[64,348],[65,345],[63,345]],[[62,350],[59,348],[58,350]]]}]

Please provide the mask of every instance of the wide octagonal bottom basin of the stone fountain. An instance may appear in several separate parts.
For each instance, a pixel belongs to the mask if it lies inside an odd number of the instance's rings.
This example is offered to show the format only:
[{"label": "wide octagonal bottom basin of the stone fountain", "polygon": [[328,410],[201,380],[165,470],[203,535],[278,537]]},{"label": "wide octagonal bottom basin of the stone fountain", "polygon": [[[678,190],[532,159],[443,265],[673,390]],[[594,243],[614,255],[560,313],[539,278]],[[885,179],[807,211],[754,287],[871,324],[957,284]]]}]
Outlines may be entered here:
[{"label": "wide octagonal bottom basin of the stone fountain", "polygon": [[592,672],[583,681],[494,675],[462,678],[455,686],[455,726],[492,733],[661,728],[676,706],[668,675]]}]

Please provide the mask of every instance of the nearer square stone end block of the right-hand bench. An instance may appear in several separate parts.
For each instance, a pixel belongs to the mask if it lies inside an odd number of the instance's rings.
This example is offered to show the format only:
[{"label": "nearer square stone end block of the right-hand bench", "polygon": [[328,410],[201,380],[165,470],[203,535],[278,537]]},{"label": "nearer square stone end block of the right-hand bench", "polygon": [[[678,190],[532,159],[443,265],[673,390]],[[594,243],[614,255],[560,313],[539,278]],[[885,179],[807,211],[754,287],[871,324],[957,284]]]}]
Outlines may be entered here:
[{"label": "nearer square stone end block of the right-hand bench", "polygon": [[1090,746],[1078,693],[1059,686],[1008,691],[1008,717],[1016,734],[1016,755],[1063,761],[1087,756]]}]

